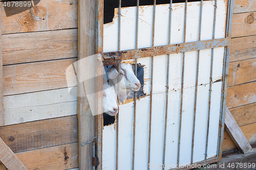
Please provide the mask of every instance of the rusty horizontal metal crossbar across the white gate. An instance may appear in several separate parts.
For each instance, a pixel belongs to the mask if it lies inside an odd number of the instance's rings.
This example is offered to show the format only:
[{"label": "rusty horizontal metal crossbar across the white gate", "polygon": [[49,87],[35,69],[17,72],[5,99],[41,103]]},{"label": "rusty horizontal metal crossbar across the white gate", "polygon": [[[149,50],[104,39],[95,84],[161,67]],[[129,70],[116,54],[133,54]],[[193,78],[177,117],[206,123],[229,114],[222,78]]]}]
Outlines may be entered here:
[{"label": "rusty horizontal metal crossbar across the white gate", "polygon": [[102,53],[103,59],[111,59],[114,58],[115,55],[120,55],[120,60],[129,60],[134,58],[142,58],[142,57],[151,57],[151,56],[160,56],[166,54],[175,54],[182,52],[189,52],[195,50],[204,50],[207,48],[216,48],[227,46],[230,43],[230,39],[228,38],[220,38],[220,39],[212,39],[205,41],[196,41],[196,42],[186,42],[179,44],[170,44],[163,46],[153,46],[147,48],[139,48],[135,50],[126,50],[126,51],[117,51],[117,52],[109,52]]}]

